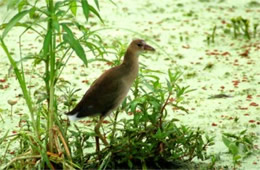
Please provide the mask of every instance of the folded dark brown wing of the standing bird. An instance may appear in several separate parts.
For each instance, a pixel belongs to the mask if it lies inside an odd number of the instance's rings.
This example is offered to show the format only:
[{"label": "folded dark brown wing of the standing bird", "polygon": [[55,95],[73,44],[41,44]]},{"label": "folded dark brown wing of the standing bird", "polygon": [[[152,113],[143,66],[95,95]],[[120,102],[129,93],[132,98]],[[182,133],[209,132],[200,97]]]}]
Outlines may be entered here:
[{"label": "folded dark brown wing of the standing bird", "polygon": [[117,104],[122,81],[117,70],[106,72],[88,89],[78,105],[73,109],[77,117],[105,114]]}]

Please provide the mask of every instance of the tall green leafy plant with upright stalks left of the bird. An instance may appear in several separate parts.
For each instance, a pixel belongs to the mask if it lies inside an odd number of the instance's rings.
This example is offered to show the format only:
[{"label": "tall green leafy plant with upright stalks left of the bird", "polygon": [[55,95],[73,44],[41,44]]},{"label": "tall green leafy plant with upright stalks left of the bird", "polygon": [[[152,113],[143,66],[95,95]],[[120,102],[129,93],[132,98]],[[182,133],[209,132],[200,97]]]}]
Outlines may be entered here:
[{"label": "tall green leafy plant with upright stalks left of the bird", "polygon": [[[96,15],[101,22],[102,18],[98,13],[99,2],[95,0],[95,6],[92,6],[88,3],[87,0],[64,0],[64,1],[54,1],[46,0],[45,4],[40,3],[39,0],[35,1],[16,1],[17,3],[10,3],[14,8],[18,9],[18,13],[12,17],[12,19],[1,25],[4,28],[3,33],[0,37],[0,45],[3,48],[6,56],[9,59],[9,62],[15,72],[15,75],[18,79],[20,88],[22,90],[24,99],[26,101],[28,110],[30,112],[32,131],[34,135],[26,134],[24,140],[28,140],[32,149],[32,156],[18,156],[19,159],[37,159],[38,154],[42,157],[42,162],[40,163],[42,168],[44,165],[47,165],[49,168],[54,168],[52,158],[57,158],[57,154],[64,150],[66,158],[70,160],[70,149],[67,145],[67,139],[65,136],[65,131],[61,127],[60,119],[57,116],[57,98],[55,95],[56,84],[59,80],[59,76],[62,74],[66,63],[71,57],[72,53],[75,52],[77,56],[82,60],[84,65],[87,67],[88,60],[85,55],[85,51],[81,46],[80,40],[77,39],[71,31],[70,26],[76,25],[80,31],[82,31],[83,38],[91,37],[94,34],[90,31],[86,32],[83,25],[74,21],[68,21],[67,18],[72,14],[73,16],[77,15],[78,7],[81,7],[83,14],[86,18],[86,21],[89,20],[89,15],[93,13]],[[26,20],[24,20],[26,18]],[[47,21],[47,24],[46,24]],[[46,26],[45,26],[46,25]],[[41,130],[42,123],[40,122],[40,113],[41,110],[36,101],[28,91],[26,75],[24,72],[23,66],[23,56],[21,57],[21,64],[19,65],[15,61],[14,57],[11,55],[8,46],[5,43],[7,34],[12,33],[12,29],[15,26],[24,27],[25,31],[34,31],[36,34],[42,38],[42,48],[39,50],[39,54],[33,60],[37,60],[37,63],[43,63],[45,65],[45,73],[42,76],[42,79],[45,83],[45,100],[47,101],[47,110],[46,110],[46,127],[47,131],[43,133]],[[40,31],[38,31],[41,29]],[[94,51],[95,48],[99,48],[100,44],[95,44],[102,40],[98,35],[91,37],[91,39],[98,39],[98,41],[86,42],[87,47]],[[90,40],[91,40],[90,39]],[[61,40],[61,41],[57,41]],[[21,43],[21,42],[20,42]],[[20,49],[22,50],[22,49]],[[101,50],[99,50],[101,52]],[[22,54],[20,52],[20,54]],[[61,146],[63,146],[61,148]],[[18,160],[19,160],[18,159]],[[17,160],[17,158],[15,159]],[[8,165],[9,166],[9,165]]]}]

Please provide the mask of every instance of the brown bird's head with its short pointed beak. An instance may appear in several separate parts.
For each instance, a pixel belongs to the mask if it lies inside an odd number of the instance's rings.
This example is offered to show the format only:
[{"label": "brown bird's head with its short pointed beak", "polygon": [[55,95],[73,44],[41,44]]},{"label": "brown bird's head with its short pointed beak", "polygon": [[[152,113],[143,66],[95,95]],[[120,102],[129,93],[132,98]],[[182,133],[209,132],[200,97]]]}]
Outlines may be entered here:
[{"label": "brown bird's head with its short pointed beak", "polygon": [[141,39],[133,40],[129,46],[129,49],[136,54],[140,54],[144,51],[155,51],[153,47],[151,47],[144,40]]}]

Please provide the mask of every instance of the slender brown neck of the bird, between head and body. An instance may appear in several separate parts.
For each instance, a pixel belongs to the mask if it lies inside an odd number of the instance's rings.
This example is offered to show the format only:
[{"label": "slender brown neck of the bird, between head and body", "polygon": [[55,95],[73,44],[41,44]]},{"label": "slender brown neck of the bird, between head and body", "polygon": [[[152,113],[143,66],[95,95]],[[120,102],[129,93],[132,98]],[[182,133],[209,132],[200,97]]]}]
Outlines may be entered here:
[{"label": "slender brown neck of the bird, between head and body", "polygon": [[122,64],[128,67],[129,69],[138,69],[138,56],[139,54],[137,54],[136,52],[127,49]]}]

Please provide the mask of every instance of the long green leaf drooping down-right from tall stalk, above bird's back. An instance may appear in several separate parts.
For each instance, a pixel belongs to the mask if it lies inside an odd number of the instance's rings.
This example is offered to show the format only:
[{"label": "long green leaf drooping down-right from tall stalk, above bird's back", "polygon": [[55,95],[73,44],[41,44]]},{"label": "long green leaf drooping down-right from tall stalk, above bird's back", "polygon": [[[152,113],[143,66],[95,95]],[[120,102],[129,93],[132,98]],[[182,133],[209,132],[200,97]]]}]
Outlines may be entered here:
[{"label": "long green leaf drooping down-right from tall stalk, above bird's back", "polygon": [[63,34],[64,41],[69,43],[69,45],[76,52],[78,57],[83,61],[83,63],[86,66],[88,66],[88,61],[87,61],[85,51],[80,45],[79,41],[74,38],[72,31],[69,29],[69,27],[66,24],[62,24],[62,27],[66,32],[66,34]]}]

